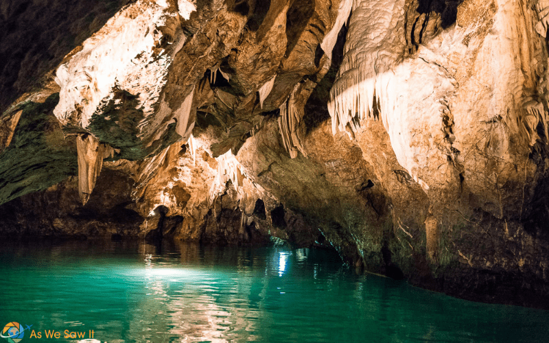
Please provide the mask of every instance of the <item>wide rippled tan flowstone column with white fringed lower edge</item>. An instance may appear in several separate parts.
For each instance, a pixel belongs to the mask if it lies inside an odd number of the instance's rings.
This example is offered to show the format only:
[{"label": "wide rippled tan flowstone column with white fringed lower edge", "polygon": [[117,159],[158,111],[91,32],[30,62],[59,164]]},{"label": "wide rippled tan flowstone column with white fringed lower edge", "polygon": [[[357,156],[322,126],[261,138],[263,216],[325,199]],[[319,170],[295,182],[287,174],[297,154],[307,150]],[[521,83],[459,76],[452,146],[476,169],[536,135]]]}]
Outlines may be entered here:
[{"label": "wide rippled tan flowstone column with white fringed lower edge", "polygon": [[397,19],[393,15],[403,5],[404,1],[395,1],[393,6],[355,1],[344,48],[346,58],[328,102],[334,134],[340,130],[353,137],[360,120],[373,117],[375,97],[386,95],[388,80],[380,80],[381,75],[396,66],[403,55],[402,44],[395,38]]}]

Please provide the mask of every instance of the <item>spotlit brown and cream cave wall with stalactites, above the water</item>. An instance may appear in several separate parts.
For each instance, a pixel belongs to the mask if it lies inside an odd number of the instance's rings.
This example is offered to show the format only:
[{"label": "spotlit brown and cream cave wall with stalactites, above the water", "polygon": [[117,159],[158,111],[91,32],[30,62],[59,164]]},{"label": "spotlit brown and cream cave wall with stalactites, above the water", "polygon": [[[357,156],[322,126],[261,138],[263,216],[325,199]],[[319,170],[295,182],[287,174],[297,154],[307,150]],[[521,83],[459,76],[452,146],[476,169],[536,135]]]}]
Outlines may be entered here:
[{"label": "spotlit brown and cream cave wall with stalactites, above the water", "polygon": [[[71,213],[110,223],[93,199],[124,178],[130,191],[107,207],[134,228],[84,235],[270,237],[548,307],[547,8],[132,1],[40,88],[12,90],[28,93],[0,118],[0,211],[15,213],[3,230],[75,234]],[[25,194],[73,199],[77,170],[89,201],[60,200],[33,233],[16,213],[40,217],[43,200]]]}]

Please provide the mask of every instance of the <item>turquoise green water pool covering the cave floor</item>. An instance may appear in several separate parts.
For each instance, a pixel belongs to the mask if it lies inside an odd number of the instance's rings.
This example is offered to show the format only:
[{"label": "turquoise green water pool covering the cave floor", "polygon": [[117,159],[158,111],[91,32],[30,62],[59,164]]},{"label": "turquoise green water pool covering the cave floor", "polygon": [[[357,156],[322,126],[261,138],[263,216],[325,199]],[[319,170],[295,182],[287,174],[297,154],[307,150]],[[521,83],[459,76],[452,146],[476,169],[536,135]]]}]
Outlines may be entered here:
[{"label": "turquoise green water pool covering the cave floor", "polygon": [[[320,250],[4,245],[0,325],[101,342],[549,342],[549,311],[471,303]],[[0,328],[1,329],[1,328]],[[3,340],[3,339],[0,339]]]}]

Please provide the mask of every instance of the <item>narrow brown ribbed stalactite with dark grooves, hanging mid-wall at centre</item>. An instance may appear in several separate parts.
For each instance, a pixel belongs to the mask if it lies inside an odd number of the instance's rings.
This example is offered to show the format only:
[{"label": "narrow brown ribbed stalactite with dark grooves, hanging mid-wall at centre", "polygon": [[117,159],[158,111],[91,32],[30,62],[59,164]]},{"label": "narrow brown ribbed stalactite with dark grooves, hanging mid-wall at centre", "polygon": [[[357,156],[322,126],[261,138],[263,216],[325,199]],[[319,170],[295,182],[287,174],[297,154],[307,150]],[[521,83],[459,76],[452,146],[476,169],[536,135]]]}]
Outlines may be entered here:
[{"label": "narrow brown ribbed stalactite with dark grooves, hanging mid-wall at centre", "polygon": [[303,118],[303,109],[299,110],[296,106],[296,93],[299,91],[300,84],[294,86],[294,90],[290,97],[280,107],[279,129],[282,136],[282,141],[286,151],[290,153],[291,158],[297,157],[297,152],[300,151],[303,156],[307,157],[307,153],[301,143],[299,137],[299,124]]}]

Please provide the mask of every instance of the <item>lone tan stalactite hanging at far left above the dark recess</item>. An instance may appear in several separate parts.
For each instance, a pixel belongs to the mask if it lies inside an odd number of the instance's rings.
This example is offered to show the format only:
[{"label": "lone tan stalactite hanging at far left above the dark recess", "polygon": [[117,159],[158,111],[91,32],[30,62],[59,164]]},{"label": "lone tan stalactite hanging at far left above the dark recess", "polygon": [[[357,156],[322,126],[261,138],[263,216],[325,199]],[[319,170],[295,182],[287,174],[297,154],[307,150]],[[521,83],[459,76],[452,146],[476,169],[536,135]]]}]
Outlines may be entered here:
[{"label": "lone tan stalactite hanging at far left above the dark recess", "polygon": [[78,193],[82,204],[88,202],[97,176],[103,167],[103,158],[112,154],[112,148],[101,144],[91,134],[80,134],[76,138],[78,151]]}]

